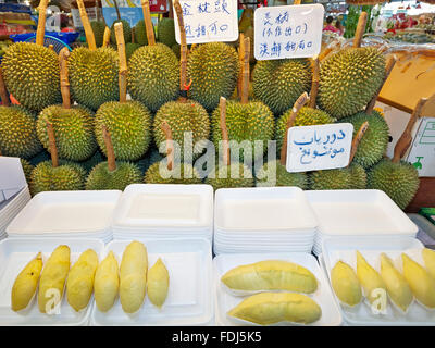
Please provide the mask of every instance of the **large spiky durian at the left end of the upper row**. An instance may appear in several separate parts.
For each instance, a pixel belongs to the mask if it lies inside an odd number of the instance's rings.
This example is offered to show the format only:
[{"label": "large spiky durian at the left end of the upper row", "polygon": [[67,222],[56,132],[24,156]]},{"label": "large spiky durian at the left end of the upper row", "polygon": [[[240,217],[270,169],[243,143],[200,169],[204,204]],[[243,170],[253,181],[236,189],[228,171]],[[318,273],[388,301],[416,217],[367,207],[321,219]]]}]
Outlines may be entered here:
[{"label": "large spiky durian at the left end of the upper row", "polygon": [[7,88],[21,105],[39,112],[62,101],[58,54],[47,47],[11,45],[1,66]]}]

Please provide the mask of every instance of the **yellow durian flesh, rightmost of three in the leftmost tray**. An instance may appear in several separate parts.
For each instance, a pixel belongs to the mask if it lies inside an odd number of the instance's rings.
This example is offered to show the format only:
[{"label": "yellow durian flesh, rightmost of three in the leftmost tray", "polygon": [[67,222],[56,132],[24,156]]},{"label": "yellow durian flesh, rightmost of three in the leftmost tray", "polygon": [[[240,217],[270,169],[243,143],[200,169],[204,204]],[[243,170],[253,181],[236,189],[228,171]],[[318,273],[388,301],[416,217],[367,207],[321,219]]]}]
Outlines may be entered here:
[{"label": "yellow durian flesh, rightmost of three in the leftmost tray", "polygon": [[98,256],[92,249],[84,251],[73,264],[66,281],[66,298],[77,312],[85,309],[92,296]]}]

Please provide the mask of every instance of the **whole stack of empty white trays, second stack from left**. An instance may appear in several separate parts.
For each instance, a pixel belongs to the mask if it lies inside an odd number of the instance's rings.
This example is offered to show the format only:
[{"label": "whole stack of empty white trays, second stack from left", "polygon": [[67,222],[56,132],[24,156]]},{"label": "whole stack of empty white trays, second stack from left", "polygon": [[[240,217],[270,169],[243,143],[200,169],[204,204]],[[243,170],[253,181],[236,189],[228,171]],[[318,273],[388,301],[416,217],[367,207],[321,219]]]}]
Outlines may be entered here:
[{"label": "whole stack of empty white trays, second stack from left", "polygon": [[173,239],[213,236],[210,185],[133,184],[125,188],[112,221],[114,239]]}]

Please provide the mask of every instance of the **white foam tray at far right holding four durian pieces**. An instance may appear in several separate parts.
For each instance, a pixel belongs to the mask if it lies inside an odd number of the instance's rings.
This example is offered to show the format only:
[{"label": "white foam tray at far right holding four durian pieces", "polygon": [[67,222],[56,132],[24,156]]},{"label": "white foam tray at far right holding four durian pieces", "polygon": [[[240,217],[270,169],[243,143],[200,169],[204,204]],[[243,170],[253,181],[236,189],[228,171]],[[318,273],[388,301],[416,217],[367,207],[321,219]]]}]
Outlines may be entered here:
[{"label": "white foam tray at far right holding four durian pieces", "polygon": [[[420,240],[412,237],[346,237],[325,239],[322,247],[322,256],[326,266],[326,274],[331,279],[331,270],[339,260],[348,263],[357,270],[356,251],[360,251],[365,260],[377,272],[380,272],[380,256],[385,252],[393,261],[396,269],[401,272],[401,253],[407,253],[411,259],[424,265],[421,251],[423,245]],[[339,303],[334,294],[334,298]],[[386,308],[386,313],[376,314],[372,312],[366,302],[361,302],[356,308],[347,308],[339,304],[343,316],[351,325],[435,325],[435,310],[427,310],[415,300],[403,314],[396,309],[390,300]]]}]

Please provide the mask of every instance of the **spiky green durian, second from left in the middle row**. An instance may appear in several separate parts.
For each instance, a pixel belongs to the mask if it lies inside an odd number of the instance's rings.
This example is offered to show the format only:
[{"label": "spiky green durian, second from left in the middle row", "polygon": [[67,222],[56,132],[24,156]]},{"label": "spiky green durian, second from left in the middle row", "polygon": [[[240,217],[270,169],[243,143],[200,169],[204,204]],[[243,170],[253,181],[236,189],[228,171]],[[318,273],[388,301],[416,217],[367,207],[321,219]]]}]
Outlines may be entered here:
[{"label": "spiky green durian, second from left in the middle row", "polygon": [[94,136],[94,112],[73,105],[51,105],[44,109],[36,124],[39,140],[50,150],[47,122],[53,125],[55,145],[60,158],[71,161],[85,161],[97,150]]}]

